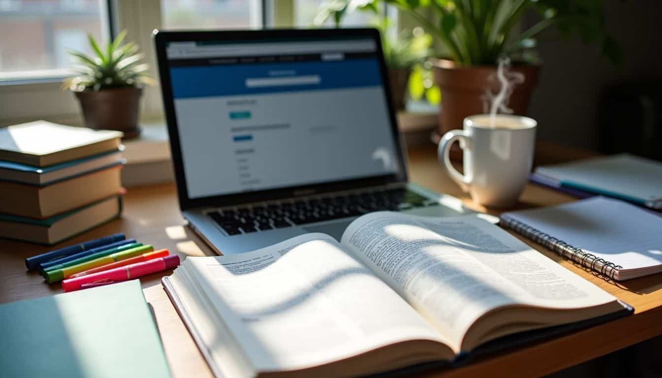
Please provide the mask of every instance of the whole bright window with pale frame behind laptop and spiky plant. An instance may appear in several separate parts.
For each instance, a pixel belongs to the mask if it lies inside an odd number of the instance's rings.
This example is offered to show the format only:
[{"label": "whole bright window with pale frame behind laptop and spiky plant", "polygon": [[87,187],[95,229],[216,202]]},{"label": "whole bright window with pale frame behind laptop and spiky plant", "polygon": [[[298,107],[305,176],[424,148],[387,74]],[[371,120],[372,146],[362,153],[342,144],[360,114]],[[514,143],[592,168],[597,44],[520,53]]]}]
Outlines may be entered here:
[{"label": "whole bright window with pale frame behind laptop and spiky plant", "polygon": [[[46,118],[82,122],[71,93],[60,90],[70,75],[67,50],[90,52],[87,34],[108,40],[128,30],[140,45],[150,74],[158,77],[152,49],[154,28],[310,27],[324,0],[0,0],[0,124]],[[113,15],[113,23],[111,17]],[[373,15],[346,15],[344,26],[371,23]],[[38,104],[38,106],[35,106]],[[144,91],[141,118],[158,122],[158,87]]]}]

